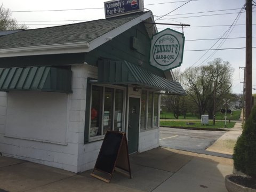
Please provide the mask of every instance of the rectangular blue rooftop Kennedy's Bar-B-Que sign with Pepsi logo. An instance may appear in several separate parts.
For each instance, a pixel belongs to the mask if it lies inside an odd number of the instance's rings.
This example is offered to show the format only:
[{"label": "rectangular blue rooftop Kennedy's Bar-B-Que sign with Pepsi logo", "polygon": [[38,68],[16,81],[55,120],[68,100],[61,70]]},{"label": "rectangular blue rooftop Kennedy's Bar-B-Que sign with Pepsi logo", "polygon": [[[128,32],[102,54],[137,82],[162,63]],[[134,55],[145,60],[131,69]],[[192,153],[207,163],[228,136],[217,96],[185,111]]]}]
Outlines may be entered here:
[{"label": "rectangular blue rooftop Kennedy's Bar-B-Que sign with Pepsi logo", "polygon": [[105,17],[115,17],[144,9],[143,0],[118,0],[104,2]]}]

